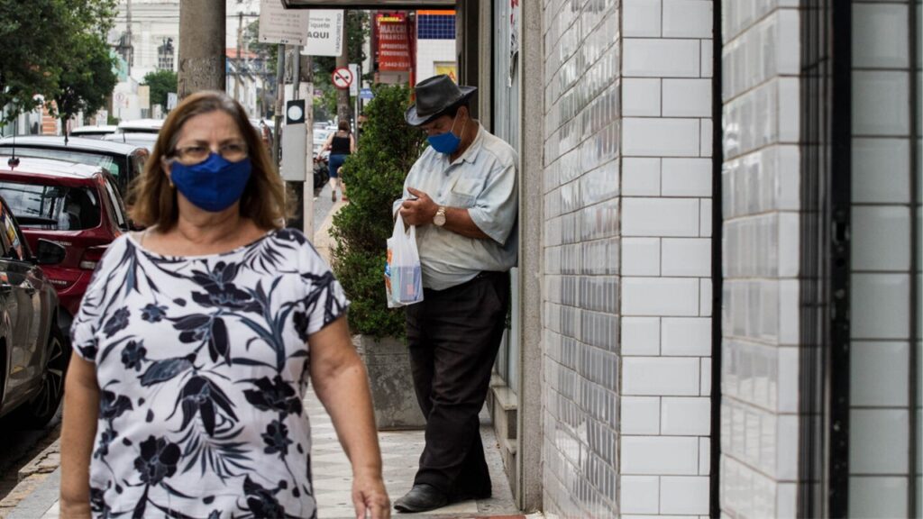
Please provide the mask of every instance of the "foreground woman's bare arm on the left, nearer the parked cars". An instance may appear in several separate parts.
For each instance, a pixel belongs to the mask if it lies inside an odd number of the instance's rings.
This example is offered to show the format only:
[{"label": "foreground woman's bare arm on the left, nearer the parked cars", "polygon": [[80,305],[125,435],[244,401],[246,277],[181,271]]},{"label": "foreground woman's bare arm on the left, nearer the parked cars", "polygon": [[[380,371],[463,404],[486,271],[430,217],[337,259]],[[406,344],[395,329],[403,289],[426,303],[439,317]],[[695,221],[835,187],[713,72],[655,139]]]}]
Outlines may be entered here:
[{"label": "foreground woman's bare arm on the left, nearer the parked cars", "polygon": [[96,367],[71,356],[61,428],[61,517],[90,517],[90,454],[96,436],[100,388]]}]

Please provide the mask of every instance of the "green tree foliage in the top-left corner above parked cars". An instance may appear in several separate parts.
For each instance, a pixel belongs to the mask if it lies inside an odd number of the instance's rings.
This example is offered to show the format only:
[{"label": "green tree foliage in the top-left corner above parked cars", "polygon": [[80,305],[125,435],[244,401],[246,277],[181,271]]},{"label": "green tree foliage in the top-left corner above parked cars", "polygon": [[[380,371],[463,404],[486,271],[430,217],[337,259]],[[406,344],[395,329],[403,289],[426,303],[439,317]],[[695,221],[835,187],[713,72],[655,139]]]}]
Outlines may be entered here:
[{"label": "green tree foliage in the top-left corner above parked cars", "polygon": [[[116,0],[0,0],[2,123],[55,100],[62,116],[98,109],[115,84],[105,35]],[[92,110],[95,111],[95,110]]]}]

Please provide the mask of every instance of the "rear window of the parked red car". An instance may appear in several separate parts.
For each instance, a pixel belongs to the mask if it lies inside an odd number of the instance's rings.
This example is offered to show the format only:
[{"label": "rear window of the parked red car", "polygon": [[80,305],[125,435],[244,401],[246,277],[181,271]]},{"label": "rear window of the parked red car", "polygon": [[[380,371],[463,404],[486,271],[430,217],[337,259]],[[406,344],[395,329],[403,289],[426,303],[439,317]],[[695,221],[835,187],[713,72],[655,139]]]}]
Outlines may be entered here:
[{"label": "rear window of the parked red car", "polygon": [[0,195],[24,228],[79,231],[100,224],[100,199],[89,187],[0,181]]}]

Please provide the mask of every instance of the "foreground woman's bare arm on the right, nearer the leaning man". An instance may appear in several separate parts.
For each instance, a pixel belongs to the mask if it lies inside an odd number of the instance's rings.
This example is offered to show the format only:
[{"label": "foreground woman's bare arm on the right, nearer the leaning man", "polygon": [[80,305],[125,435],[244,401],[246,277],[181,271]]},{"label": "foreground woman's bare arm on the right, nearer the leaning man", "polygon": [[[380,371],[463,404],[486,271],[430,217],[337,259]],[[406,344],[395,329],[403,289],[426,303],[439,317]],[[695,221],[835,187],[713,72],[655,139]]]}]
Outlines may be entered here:
[{"label": "foreground woman's bare arm on the right, nearer the leaning man", "polygon": [[390,501],[381,478],[381,452],[366,367],[350,341],[341,317],[308,337],[311,383],[333,420],[346,456],[353,465],[353,504],[356,517],[390,517]]}]

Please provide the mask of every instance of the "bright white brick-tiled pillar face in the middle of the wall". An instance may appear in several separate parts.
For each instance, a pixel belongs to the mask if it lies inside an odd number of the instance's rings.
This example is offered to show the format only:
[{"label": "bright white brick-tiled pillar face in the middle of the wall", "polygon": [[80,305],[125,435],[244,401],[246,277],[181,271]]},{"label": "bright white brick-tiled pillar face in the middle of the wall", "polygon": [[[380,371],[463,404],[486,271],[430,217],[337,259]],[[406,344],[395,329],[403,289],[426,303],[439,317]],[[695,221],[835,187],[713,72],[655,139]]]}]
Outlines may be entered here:
[{"label": "bright white brick-tiled pillar face in the middle of the wall", "polygon": [[623,6],[619,507],[706,515],[713,6]]}]

